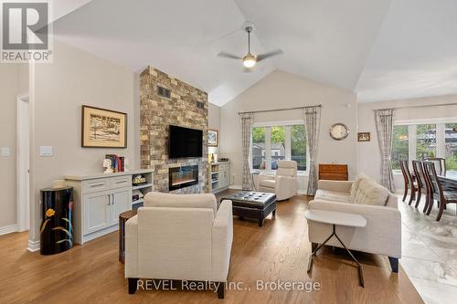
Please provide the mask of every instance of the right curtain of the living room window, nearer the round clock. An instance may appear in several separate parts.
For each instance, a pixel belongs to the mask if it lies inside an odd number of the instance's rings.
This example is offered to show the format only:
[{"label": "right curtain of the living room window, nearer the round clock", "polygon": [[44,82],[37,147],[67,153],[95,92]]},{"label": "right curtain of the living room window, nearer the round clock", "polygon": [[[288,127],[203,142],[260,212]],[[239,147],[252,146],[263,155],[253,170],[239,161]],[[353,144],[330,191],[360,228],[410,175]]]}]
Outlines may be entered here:
[{"label": "right curtain of the living room window, nearer the round clock", "polygon": [[304,109],[304,126],[306,129],[306,143],[310,152],[310,168],[308,177],[308,195],[317,191],[317,146],[319,143],[319,129],[321,126],[321,107]]}]

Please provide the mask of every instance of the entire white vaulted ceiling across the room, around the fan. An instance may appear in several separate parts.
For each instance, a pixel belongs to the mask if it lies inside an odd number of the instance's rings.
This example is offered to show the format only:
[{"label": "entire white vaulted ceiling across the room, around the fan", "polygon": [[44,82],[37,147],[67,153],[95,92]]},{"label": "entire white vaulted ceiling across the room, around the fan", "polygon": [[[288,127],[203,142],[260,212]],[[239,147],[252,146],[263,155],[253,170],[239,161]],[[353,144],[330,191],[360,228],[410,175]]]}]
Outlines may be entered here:
[{"label": "entire white vaulted ceiling across the room, around the fan", "polygon": [[[148,65],[223,105],[279,68],[356,91],[360,101],[457,93],[454,0],[69,0],[54,34],[133,71]],[[284,54],[244,73],[218,58]]]}]

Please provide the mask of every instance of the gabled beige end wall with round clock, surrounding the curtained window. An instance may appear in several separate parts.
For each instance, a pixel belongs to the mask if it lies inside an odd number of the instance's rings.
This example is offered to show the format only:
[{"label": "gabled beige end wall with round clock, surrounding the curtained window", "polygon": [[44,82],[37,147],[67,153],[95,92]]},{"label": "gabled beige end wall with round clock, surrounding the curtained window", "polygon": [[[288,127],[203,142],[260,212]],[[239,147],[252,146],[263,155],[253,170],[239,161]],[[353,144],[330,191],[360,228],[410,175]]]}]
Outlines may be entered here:
[{"label": "gabled beige end wall with round clock, surrounding the curtained window", "polygon": [[[356,161],[356,95],[310,79],[275,70],[254,86],[220,108],[220,154],[231,161],[233,183],[241,184],[242,153],[239,111],[274,110],[322,104],[321,134],[317,162],[347,163],[349,175],[357,171]],[[255,114],[255,122],[303,120],[302,110],[273,111]],[[344,141],[333,140],[328,131],[335,122],[349,127]],[[299,181],[307,187],[307,177]]]}]

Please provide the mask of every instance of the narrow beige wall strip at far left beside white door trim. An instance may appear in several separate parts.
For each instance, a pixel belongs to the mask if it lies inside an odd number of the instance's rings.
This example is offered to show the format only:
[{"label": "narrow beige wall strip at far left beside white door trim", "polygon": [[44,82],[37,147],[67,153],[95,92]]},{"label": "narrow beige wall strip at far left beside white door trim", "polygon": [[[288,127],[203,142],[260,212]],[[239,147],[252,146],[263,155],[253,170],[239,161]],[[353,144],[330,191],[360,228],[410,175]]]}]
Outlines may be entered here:
[{"label": "narrow beige wall strip at far left beside white door trim", "polygon": [[0,147],[10,149],[10,156],[0,155],[0,234],[16,225],[16,97],[27,91],[28,65],[0,64]]}]

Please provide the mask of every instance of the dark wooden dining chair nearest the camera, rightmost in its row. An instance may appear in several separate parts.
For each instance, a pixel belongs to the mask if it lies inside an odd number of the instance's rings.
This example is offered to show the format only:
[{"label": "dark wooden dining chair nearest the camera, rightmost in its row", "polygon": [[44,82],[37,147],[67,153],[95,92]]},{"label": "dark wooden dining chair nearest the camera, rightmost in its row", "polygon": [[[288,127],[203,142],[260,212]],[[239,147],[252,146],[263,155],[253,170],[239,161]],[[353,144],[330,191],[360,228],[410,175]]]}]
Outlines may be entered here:
[{"label": "dark wooden dining chair nearest the camera, rightmost in its row", "polygon": [[[436,173],[435,164],[433,162],[423,162],[425,173],[429,176],[430,181],[433,185],[432,199],[436,199],[439,202],[440,210],[436,216],[436,220],[440,221],[442,212],[446,208],[446,204],[457,204],[457,193],[451,191],[443,191],[441,187],[440,179]],[[427,215],[430,215],[431,203],[427,211]]]}]

